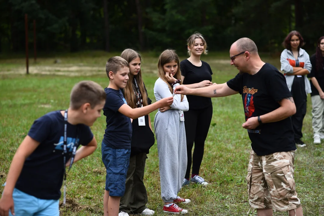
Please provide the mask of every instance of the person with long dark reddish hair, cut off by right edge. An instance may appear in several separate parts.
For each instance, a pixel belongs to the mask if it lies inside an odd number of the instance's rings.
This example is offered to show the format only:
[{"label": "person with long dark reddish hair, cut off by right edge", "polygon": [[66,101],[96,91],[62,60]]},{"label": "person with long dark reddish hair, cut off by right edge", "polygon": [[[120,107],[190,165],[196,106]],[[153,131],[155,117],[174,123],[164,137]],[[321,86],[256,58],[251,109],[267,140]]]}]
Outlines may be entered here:
[{"label": "person with long dark reddish hair, cut off by right edge", "polygon": [[312,125],[314,131],[314,144],[320,144],[324,139],[324,36],[317,42],[316,53],[310,57],[312,70],[307,77],[310,78],[310,93],[312,99]]}]

